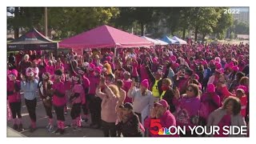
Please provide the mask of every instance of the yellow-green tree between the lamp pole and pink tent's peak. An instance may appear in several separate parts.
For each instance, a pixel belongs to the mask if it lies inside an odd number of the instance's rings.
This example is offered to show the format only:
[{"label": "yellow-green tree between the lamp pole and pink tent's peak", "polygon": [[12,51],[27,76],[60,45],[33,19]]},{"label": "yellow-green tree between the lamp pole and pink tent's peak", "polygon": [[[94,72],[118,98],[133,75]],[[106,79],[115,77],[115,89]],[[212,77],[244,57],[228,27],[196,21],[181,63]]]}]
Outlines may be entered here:
[{"label": "yellow-green tree between the lamp pole and pink tent's peak", "polygon": [[50,7],[48,10],[48,26],[57,31],[59,38],[108,24],[119,14],[118,8],[113,7]]}]

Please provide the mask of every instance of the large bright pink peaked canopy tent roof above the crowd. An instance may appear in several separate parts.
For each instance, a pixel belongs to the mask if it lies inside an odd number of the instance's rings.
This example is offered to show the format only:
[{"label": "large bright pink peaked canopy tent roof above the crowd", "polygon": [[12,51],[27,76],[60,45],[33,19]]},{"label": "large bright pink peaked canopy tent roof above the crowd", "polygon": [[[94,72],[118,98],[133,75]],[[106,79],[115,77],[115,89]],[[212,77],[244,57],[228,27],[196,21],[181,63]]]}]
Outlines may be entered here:
[{"label": "large bright pink peaked canopy tent roof above the crowd", "polygon": [[126,33],[111,26],[98,26],[92,30],[66,38],[59,42],[60,48],[122,48],[154,46],[154,43],[140,38],[134,34]]}]

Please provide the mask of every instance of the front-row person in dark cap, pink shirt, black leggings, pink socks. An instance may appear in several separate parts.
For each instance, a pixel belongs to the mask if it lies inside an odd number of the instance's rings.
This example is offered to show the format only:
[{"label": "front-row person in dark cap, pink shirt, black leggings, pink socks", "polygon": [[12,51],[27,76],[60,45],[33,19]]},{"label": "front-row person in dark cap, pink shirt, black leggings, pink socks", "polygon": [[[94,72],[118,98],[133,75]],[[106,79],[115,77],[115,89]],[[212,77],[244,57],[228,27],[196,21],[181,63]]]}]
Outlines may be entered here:
[{"label": "front-row person in dark cap, pink shirt, black leggings, pink socks", "polygon": [[53,105],[54,111],[57,115],[58,130],[54,133],[64,134],[65,129],[65,117],[64,117],[64,106],[66,105],[64,83],[61,81],[62,70],[55,70],[54,72],[54,84],[53,88]]}]

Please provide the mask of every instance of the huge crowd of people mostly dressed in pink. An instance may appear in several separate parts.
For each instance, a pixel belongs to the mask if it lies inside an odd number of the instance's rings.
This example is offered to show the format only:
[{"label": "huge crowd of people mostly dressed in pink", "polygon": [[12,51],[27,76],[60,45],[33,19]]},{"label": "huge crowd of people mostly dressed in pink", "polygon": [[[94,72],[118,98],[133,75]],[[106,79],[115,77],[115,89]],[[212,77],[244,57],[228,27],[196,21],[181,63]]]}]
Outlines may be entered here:
[{"label": "huge crowd of people mostly dressed in pink", "polygon": [[[36,130],[43,102],[46,129],[65,134],[70,110],[74,130],[90,127],[105,137],[156,137],[158,121],[170,126],[247,126],[249,45],[171,45],[52,54],[19,51],[7,62],[7,102],[14,130],[21,131],[21,99]],[[53,112],[57,116],[54,130]],[[175,137],[206,135],[186,134]],[[210,135],[213,137],[246,135]],[[247,135],[248,136],[248,135]]]}]

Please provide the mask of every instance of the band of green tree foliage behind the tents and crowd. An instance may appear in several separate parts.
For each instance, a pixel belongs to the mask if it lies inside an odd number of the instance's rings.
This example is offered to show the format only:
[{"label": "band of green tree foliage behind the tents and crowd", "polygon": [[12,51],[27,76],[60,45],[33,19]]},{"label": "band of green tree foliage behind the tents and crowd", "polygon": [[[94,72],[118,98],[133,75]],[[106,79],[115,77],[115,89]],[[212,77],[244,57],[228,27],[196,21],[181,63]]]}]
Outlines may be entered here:
[{"label": "band of green tree foliage behind the tents and crowd", "polygon": [[[222,38],[230,28],[234,34],[249,33],[246,23],[234,22],[231,14],[224,14],[224,7],[50,7],[48,29],[55,30],[58,38],[68,38],[96,26],[108,24],[134,34],[161,38],[178,34],[186,38],[190,30],[202,39],[207,34]],[[7,18],[7,29],[44,29],[43,7],[7,7],[14,17]],[[233,26],[232,26],[233,25]]]}]

